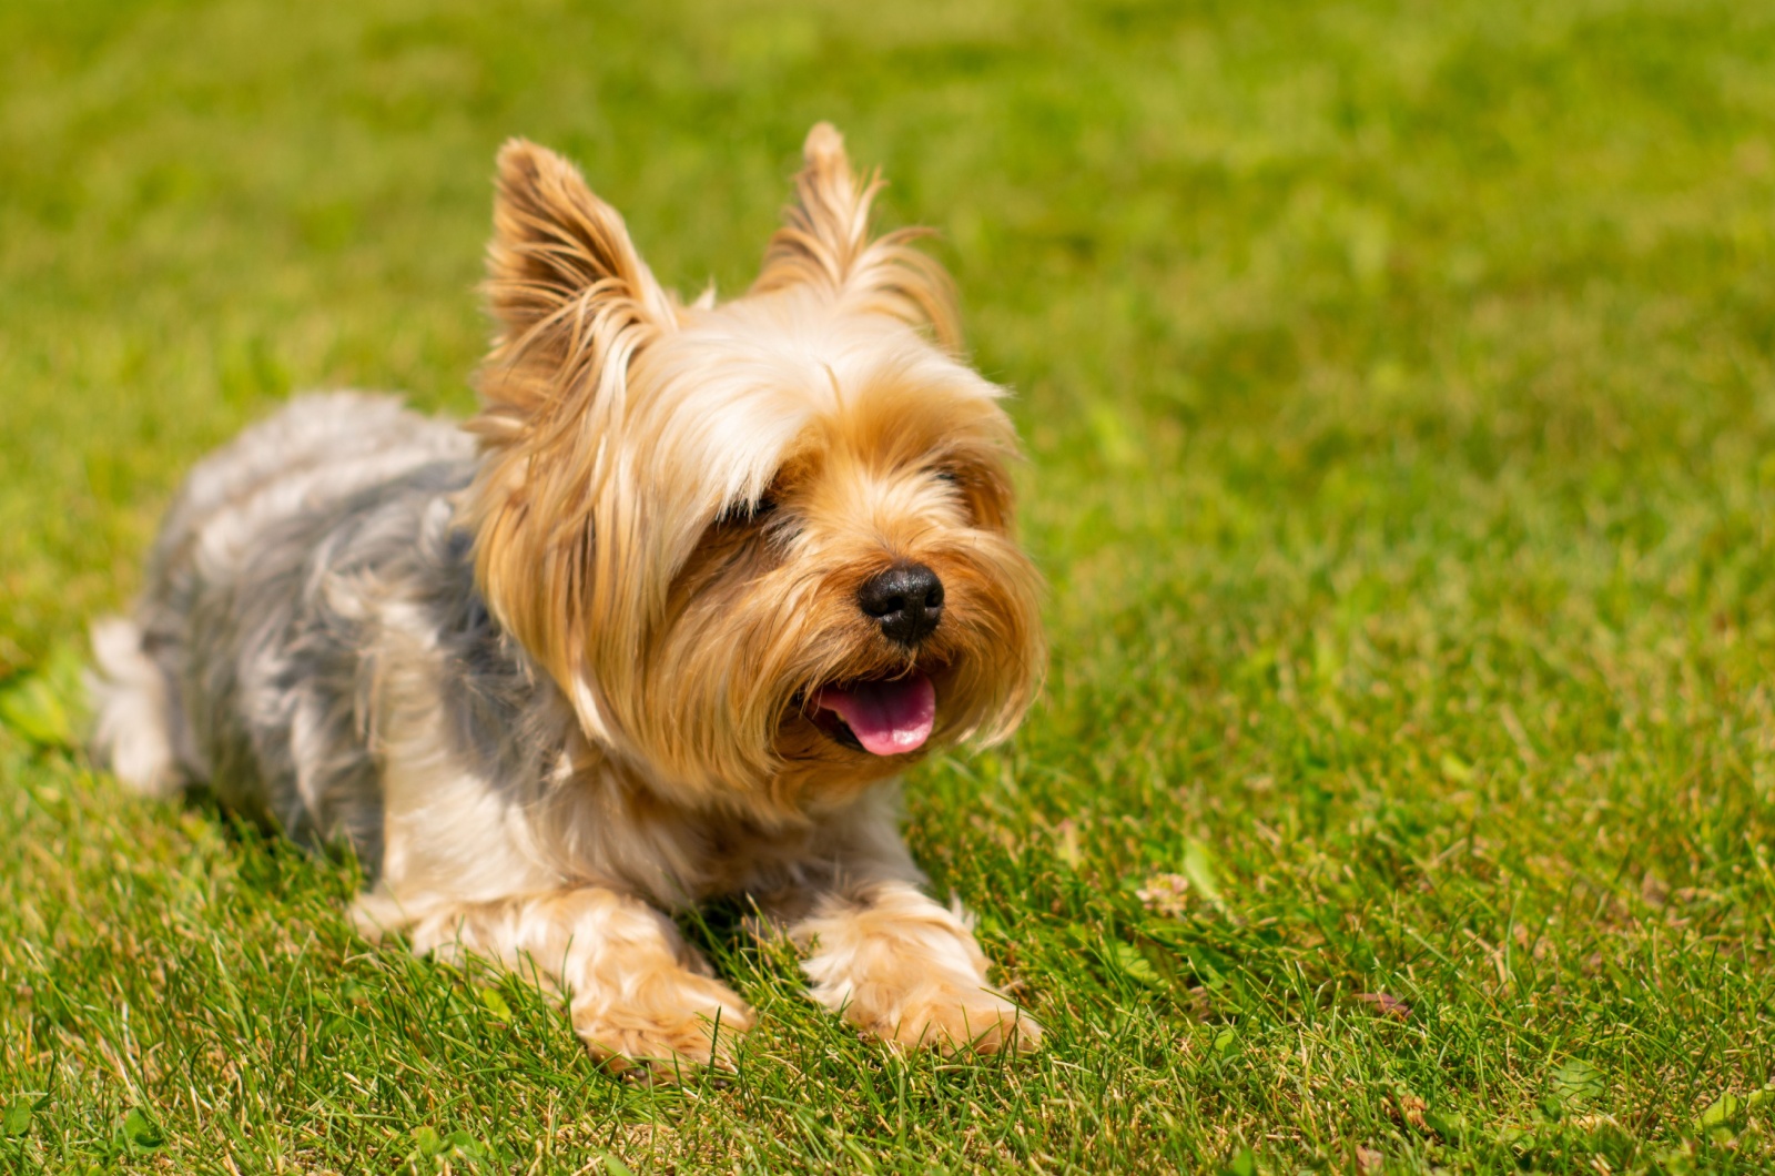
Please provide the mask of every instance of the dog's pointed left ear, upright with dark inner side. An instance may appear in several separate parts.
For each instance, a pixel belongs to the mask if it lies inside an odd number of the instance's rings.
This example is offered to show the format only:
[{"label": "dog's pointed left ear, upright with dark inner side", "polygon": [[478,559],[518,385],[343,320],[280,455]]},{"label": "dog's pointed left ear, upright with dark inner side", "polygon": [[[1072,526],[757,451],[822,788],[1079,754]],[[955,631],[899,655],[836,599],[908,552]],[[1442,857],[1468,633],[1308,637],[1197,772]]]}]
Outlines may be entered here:
[{"label": "dog's pointed left ear, upright with dark inner side", "polygon": [[499,151],[486,272],[499,338],[479,384],[495,417],[529,416],[575,384],[619,378],[676,314],[621,215],[572,163],[522,139]]}]

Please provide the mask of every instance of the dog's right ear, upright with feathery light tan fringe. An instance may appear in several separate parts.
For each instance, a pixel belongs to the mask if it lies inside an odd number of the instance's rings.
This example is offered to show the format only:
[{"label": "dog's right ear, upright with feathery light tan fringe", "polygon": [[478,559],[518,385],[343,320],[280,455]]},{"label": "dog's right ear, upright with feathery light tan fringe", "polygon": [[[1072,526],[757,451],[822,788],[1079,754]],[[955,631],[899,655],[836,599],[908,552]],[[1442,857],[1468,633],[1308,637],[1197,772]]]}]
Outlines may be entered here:
[{"label": "dog's right ear, upright with feathery light tan fringe", "polygon": [[857,309],[928,327],[950,352],[960,350],[960,323],[950,275],[912,249],[928,229],[895,229],[870,238],[870,204],[882,187],[879,174],[861,179],[850,169],[845,139],[831,123],[816,123],[802,146],[795,203],[770,238],[754,293],[813,286]]}]

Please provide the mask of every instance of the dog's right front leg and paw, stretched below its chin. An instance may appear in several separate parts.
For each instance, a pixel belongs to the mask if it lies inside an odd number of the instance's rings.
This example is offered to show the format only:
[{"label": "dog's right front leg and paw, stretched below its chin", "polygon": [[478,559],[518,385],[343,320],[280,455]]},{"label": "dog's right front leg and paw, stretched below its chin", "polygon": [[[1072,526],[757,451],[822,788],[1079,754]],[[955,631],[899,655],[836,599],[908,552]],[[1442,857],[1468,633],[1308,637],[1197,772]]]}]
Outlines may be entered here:
[{"label": "dog's right front leg and paw, stretched below its chin", "polygon": [[831,890],[788,934],[808,950],[813,998],[882,1041],[996,1053],[1042,1039],[1040,1025],[987,984],[962,911],[909,881]]}]

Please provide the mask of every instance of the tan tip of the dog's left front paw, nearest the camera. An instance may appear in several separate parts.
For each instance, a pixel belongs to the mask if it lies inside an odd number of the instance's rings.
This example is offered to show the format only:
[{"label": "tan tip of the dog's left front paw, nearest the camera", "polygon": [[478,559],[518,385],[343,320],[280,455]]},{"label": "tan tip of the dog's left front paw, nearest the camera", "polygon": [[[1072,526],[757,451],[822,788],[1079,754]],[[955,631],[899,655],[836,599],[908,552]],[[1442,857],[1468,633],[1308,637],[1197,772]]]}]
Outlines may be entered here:
[{"label": "tan tip of the dog's left front paw, nearest the camera", "polygon": [[746,1002],[701,975],[662,977],[614,1000],[589,997],[573,1002],[573,1032],[595,1059],[625,1075],[733,1069],[740,1034],[753,1027]]}]

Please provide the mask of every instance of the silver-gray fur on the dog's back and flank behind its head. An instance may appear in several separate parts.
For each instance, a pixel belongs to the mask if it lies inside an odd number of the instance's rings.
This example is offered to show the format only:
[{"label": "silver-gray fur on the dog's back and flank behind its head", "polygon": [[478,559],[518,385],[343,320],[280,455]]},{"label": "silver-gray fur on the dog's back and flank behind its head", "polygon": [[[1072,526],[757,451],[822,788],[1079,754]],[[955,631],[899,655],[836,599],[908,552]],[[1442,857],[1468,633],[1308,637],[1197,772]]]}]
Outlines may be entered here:
[{"label": "silver-gray fur on the dog's back and flank behind its head", "polygon": [[[165,764],[142,780],[208,785],[224,805],[318,844],[344,838],[375,876],[382,792],[369,707],[375,627],[421,609],[435,632],[453,748],[493,780],[538,782],[561,703],[474,590],[454,496],[474,441],[392,398],[295,400],[204,458],[154,544],[137,648],[156,691]],[[101,750],[138,737],[105,691],[140,677],[124,634],[99,640]],[[149,718],[149,716],[142,716]],[[550,737],[554,735],[554,737]]]}]

